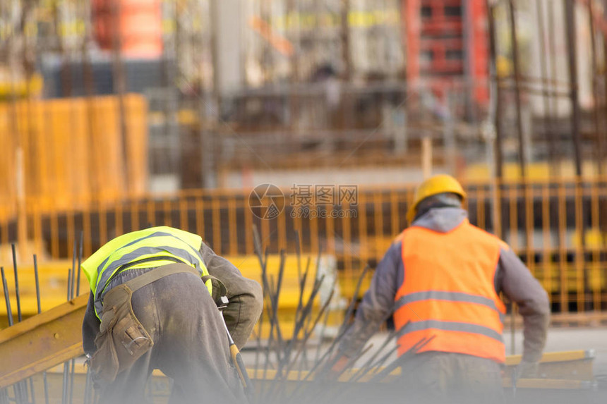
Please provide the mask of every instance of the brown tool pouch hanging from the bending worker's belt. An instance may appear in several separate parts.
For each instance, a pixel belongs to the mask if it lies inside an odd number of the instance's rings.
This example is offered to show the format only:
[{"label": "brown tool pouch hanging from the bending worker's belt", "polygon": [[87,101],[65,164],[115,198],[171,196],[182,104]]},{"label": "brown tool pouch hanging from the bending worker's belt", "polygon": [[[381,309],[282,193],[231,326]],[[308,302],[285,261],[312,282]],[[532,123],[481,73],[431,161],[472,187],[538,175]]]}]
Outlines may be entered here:
[{"label": "brown tool pouch hanging from the bending worker's belt", "polygon": [[95,338],[97,351],[90,361],[98,387],[112,383],[117,374],[131,367],[154,345],[133,313],[133,291],[127,284],[115,286],[103,299],[100,333]]}]

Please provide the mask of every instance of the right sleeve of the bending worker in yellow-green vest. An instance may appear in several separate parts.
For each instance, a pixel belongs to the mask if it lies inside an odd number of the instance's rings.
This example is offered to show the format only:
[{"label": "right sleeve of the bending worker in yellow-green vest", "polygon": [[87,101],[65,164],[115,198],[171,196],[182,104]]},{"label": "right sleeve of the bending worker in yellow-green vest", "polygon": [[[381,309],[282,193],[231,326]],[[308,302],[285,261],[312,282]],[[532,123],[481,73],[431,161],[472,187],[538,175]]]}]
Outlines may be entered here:
[{"label": "right sleeve of the bending worker in yellow-green vest", "polygon": [[252,279],[245,278],[241,272],[224,257],[203,243],[200,254],[209,274],[218,278],[227,289],[229,303],[223,310],[224,319],[234,343],[240,349],[251,336],[263,310],[263,291]]}]

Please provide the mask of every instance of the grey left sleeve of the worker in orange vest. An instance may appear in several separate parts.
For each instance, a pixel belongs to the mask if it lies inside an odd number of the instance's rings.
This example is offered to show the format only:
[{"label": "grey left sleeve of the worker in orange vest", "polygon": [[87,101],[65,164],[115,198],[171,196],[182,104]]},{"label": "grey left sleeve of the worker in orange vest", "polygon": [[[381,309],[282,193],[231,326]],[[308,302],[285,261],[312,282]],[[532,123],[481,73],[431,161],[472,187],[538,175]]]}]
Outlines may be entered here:
[{"label": "grey left sleeve of the worker in orange vest", "polygon": [[394,310],[395,295],[404,274],[401,245],[400,242],[392,244],[375,269],[371,286],[356,310],[354,323],[339,344],[339,353],[342,355],[357,355]]}]

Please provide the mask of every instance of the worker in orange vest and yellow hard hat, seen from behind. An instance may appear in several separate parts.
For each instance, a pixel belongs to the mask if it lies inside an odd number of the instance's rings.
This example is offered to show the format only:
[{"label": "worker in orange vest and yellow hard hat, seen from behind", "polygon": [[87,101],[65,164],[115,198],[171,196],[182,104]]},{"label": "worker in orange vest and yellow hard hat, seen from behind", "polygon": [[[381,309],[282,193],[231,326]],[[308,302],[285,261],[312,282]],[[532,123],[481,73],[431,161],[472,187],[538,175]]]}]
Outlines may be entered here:
[{"label": "worker in orange vest and yellow hard hat, seen from behind", "polygon": [[548,295],[506,243],[469,223],[465,198],[451,176],[419,185],[407,212],[411,226],[378,264],[339,345],[334,377],[394,312],[399,355],[432,338],[402,363],[407,394],[423,403],[503,402],[506,310],[500,292],[524,318],[517,374],[536,372],[546,343]]}]

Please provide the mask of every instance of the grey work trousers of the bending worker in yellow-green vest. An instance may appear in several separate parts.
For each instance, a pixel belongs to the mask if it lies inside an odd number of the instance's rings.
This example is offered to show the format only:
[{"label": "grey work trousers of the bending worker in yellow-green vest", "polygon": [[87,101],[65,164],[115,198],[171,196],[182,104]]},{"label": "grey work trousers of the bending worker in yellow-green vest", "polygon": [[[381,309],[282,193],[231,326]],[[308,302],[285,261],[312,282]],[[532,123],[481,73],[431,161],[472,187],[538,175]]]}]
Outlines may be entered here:
[{"label": "grey work trousers of the bending worker in yellow-green vest", "polygon": [[[107,290],[146,271],[124,271]],[[170,404],[246,402],[221,313],[199,277],[165,276],[137,290],[131,301],[154,346],[100,391],[100,403],[146,403],[145,385],[153,369],[174,380]]]}]

